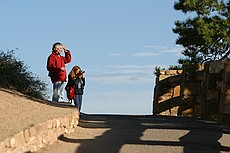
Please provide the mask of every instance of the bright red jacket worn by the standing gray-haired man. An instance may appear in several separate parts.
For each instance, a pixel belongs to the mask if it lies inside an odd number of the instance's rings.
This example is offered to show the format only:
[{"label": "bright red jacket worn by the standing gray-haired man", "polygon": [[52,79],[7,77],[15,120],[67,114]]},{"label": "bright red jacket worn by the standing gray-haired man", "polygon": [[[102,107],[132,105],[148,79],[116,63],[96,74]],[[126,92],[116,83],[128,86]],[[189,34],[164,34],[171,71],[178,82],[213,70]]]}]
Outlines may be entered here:
[{"label": "bright red jacket worn by the standing gray-haired man", "polygon": [[51,81],[66,81],[66,70],[61,70],[61,67],[65,67],[65,64],[71,62],[70,51],[65,52],[65,56],[61,56],[56,52],[52,52],[47,60],[47,70],[49,71],[49,77]]}]

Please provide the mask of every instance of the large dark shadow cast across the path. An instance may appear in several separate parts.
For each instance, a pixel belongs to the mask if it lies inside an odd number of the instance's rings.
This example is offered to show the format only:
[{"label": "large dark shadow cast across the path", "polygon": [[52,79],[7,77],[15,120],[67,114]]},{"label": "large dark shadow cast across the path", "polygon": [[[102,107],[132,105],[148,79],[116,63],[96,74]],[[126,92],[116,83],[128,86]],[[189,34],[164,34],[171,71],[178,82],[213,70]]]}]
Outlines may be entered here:
[{"label": "large dark shadow cast across the path", "polygon": [[[218,140],[223,129],[215,123],[206,123],[193,118],[166,116],[128,116],[128,115],[82,115],[79,126],[83,128],[108,128],[102,135],[91,139],[72,139],[60,137],[61,141],[79,143],[76,153],[118,153],[124,145],[132,145],[125,152],[139,152],[135,145],[148,147],[181,147],[183,152],[220,153],[230,151],[229,146],[221,146]],[[146,130],[159,132],[165,130],[189,131],[177,140],[161,140],[159,133],[150,133],[151,139],[141,138]],[[164,132],[162,132],[164,134]],[[163,135],[162,135],[163,136]],[[156,137],[156,139],[155,139]],[[165,136],[164,137],[172,137]],[[132,150],[134,149],[134,150]],[[140,149],[140,148],[139,148]],[[145,152],[143,149],[142,152]],[[160,152],[160,150],[159,150]]]}]

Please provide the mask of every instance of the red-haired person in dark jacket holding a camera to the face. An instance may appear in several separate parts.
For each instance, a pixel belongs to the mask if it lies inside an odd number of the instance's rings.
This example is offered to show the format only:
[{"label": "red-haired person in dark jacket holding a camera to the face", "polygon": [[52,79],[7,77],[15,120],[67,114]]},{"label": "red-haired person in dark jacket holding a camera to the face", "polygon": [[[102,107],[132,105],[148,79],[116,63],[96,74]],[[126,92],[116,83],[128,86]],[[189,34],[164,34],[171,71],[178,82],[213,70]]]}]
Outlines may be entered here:
[{"label": "red-haired person in dark jacket holding a camera to the face", "polygon": [[82,96],[85,87],[84,73],[85,71],[81,70],[79,66],[74,66],[68,75],[67,86],[75,86],[76,99],[74,100],[74,104],[78,107],[79,112],[81,111]]}]

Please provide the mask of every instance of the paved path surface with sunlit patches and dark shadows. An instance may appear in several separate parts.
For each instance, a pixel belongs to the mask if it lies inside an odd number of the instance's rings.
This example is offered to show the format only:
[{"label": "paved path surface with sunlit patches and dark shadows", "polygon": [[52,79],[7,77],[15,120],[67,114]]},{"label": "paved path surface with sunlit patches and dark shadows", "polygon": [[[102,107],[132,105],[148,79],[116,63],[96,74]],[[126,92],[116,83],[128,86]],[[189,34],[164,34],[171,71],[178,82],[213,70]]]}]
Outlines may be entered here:
[{"label": "paved path surface with sunlit patches and dark shadows", "polygon": [[227,153],[230,131],[216,123],[166,116],[87,115],[37,153]]}]

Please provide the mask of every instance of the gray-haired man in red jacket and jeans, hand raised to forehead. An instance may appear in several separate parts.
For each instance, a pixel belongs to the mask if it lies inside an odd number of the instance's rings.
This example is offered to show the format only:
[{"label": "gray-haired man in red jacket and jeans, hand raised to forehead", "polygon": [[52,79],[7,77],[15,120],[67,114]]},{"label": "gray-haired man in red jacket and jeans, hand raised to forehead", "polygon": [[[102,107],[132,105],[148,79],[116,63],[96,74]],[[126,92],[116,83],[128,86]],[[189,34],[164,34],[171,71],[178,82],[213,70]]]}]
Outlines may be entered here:
[{"label": "gray-haired man in red jacket and jeans, hand raised to forehead", "polygon": [[[61,53],[64,50],[65,56]],[[53,83],[52,101],[63,101],[64,82],[66,82],[65,64],[71,62],[71,54],[68,49],[60,42],[53,44],[52,53],[47,59],[47,70]]]}]

